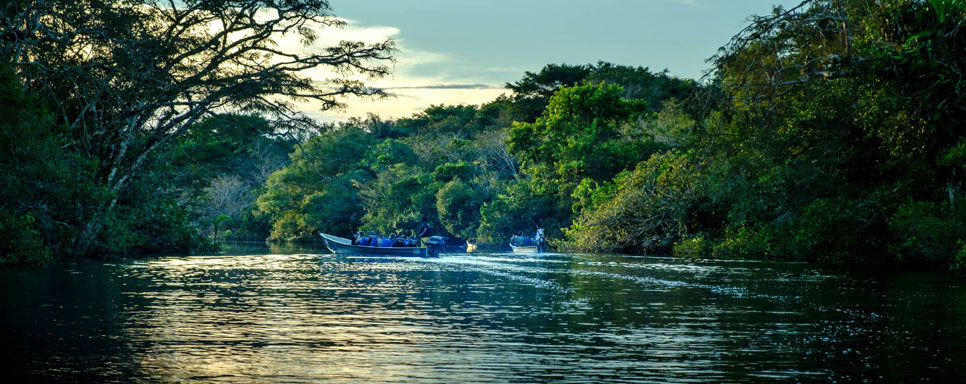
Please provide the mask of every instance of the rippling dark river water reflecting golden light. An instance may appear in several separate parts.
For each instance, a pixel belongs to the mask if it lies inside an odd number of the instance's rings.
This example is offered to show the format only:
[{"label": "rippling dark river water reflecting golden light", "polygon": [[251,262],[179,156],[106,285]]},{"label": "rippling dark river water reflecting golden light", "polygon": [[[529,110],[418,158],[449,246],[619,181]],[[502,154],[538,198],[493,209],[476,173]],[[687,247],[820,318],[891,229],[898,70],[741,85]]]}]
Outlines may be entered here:
[{"label": "rippling dark river water reflecting golden light", "polygon": [[0,364],[5,382],[960,382],[961,282],[618,255],[77,261],[0,270]]}]

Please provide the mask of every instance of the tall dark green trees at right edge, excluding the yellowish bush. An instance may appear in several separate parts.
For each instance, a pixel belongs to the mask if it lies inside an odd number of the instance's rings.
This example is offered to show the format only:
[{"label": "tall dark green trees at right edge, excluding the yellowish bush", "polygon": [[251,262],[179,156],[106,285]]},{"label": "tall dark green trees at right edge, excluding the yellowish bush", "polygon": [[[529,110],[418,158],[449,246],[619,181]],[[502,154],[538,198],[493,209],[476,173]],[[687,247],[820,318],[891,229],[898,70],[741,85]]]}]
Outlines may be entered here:
[{"label": "tall dark green trees at right edge, excluding the yellowish bush", "polygon": [[[809,0],[754,17],[712,58],[708,131],[731,209],[719,255],[951,262],[963,227],[958,0]],[[712,135],[712,133],[714,133]]]}]

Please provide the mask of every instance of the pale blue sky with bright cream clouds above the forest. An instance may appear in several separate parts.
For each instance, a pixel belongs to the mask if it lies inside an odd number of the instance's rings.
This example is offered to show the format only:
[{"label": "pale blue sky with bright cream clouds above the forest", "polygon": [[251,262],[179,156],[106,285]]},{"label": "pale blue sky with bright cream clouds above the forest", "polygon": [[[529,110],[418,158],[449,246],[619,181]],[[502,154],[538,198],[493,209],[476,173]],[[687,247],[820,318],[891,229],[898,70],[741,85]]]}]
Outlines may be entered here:
[{"label": "pale blue sky with bright cream clouds above the forest", "polygon": [[[700,78],[706,60],[774,5],[801,0],[330,0],[348,21],[333,39],[392,39],[393,74],[373,81],[393,96],[344,100],[323,121],[408,117],[431,105],[481,104],[547,64],[606,61]],[[331,32],[331,31],[330,31]],[[323,33],[323,36],[326,34]]]}]

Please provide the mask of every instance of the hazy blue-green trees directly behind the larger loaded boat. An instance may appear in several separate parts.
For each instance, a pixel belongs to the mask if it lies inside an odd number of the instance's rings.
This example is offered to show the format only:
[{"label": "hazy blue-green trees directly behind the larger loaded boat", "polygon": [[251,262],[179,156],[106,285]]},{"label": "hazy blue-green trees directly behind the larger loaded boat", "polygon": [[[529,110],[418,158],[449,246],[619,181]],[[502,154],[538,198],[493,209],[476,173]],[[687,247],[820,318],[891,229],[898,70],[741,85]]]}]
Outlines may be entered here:
[{"label": "hazy blue-green trees directly behind the larger loaded boat", "polygon": [[[505,144],[493,135],[502,130],[493,125],[498,115],[493,107],[435,106],[395,122],[352,120],[309,139],[258,198],[259,213],[273,223],[270,238],[309,240],[319,231],[357,229],[409,233],[423,216],[447,230],[435,234],[473,236],[489,191],[515,172],[494,165],[507,163]],[[470,188],[472,199],[444,188],[453,180]]]}]

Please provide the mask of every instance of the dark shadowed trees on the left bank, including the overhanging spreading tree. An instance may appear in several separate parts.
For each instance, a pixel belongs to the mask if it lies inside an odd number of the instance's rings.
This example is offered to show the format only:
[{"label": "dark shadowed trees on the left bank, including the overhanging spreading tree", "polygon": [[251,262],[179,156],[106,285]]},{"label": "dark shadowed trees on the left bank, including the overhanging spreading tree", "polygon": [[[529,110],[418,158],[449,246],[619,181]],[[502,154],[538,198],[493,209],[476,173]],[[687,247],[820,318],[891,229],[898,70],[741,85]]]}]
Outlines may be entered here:
[{"label": "dark shadowed trees on the left bank, including the overhanging spreading tree", "polygon": [[[192,144],[248,134],[211,120],[219,115],[267,119],[272,132],[260,133],[271,138],[314,125],[293,109],[293,99],[328,109],[340,96],[381,95],[358,78],[388,73],[392,42],[341,41],[297,55],[276,43],[288,34],[312,44],[316,31],[343,25],[327,0],[0,3],[0,145],[12,154],[0,160],[8,187],[0,233],[10,239],[0,244],[0,261],[206,247],[198,226],[207,230],[202,221],[211,212],[193,212],[198,199],[191,191],[208,185],[205,203],[232,200],[235,186],[254,187],[257,172],[171,167],[241,155],[272,162],[272,139],[232,143],[252,147],[235,153]],[[304,74],[312,69],[336,75],[320,81]],[[264,171],[283,165],[275,163],[262,164]],[[222,176],[220,184],[197,180]],[[219,196],[218,188],[229,195]],[[225,210],[221,221],[245,220]]]}]

